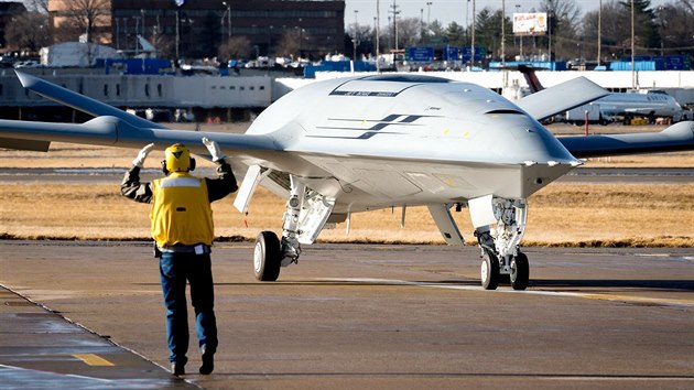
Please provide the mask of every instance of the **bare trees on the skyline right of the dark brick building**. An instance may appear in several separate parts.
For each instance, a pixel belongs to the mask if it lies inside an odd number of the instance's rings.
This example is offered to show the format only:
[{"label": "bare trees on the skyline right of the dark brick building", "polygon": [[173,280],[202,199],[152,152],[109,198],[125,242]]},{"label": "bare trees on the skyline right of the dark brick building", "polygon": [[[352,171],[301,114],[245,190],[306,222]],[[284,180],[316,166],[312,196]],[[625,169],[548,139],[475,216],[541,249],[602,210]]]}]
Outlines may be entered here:
[{"label": "bare trees on the skyline right of the dark brick building", "polygon": [[[694,0],[671,0],[652,7],[650,0],[607,0],[600,10],[583,14],[576,0],[542,0],[536,9],[528,12],[546,12],[550,34],[542,36],[514,36],[512,11],[485,8],[475,15],[475,45],[486,47],[487,59],[513,61],[521,54],[525,59],[549,58],[551,40],[552,56],[556,61],[598,61],[598,24],[600,62],[631,56],[631,4],[633,3],[635,55],[694,55]],[[473,19],[470,17],[470,19]],[[505,34],[501,36],[503,20]],[[438,21],[426,24],[421,18],[398,20],[398,47],[410,46],[469,46],[473,23],[468,26],[452,22],[447,26]],[[375,53],[375,32],[369,25],[350,24],[346,41],[356,36],[360,42],[357,53]],[[395,47],[394,24],[381,26],[380,52]],[[351,50],[350,50],[351,51]],[[347,53],[350,53],[348,51]]]}]

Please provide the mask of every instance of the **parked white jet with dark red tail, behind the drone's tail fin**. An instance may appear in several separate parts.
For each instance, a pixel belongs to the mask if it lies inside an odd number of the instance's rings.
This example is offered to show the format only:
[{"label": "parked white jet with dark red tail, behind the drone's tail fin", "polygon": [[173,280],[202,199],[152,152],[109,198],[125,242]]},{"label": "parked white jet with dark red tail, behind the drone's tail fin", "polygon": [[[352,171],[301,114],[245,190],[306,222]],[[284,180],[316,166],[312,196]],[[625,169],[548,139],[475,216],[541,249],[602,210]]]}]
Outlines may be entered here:
[{"label": "parked white jet with dark red tail, behind the drone's tail fin", "polygon": [[[520,65],[518,71],[525,76],[525,82],[532,94],[544,89],[534,73],[535,68]],[[596,110],[595,107],[598,109]],[[628,93],[611,93],[592,101],[589,105],[575,108],[567,112],[567,116],[573,113],[573,119],[570,120],[581,121],[583,120],[583,112],[587,111],[592,115],[590,121],[601,123],[633,117],[648,117],[651,121],[654,121],[658,117],[677,117],[683,110],[684,108],[680,106],[677,100],[663,90],[639,89]]]}]

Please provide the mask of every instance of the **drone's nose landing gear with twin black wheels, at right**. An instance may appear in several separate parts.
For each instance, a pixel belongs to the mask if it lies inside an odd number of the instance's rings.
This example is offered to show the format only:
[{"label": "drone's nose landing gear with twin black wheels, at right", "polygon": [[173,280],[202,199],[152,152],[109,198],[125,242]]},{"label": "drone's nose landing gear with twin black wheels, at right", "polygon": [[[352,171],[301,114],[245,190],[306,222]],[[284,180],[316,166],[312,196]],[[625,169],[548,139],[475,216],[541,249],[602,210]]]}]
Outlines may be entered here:
[{"label": "drone's nose landing gear with twin black wheels, at right", "polygon": [[525,290],[530,267],[518,245],[525,230],[528,206],[524,199],[494,199],[492,205],[496,227],[475,230],[481,250],[481,285],[496,290],[502,280],[508,280],[513,290]]}]

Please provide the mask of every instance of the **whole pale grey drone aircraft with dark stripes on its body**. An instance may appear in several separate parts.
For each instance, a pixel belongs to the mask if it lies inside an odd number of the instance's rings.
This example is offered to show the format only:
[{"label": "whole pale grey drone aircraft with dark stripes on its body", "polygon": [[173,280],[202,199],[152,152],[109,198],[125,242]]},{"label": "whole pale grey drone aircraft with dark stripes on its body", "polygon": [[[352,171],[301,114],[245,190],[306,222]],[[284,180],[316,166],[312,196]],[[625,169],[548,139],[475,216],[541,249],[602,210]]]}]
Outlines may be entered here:
[{"label": "whole pale grey drone aircraft with dark stripes on its body", "polygon": [[529,282],[520,250],[527,198],[581,158],[694,150],[694,122],[662,132],[556,139],[539,120],[607,95],[585,78],[512,104],[469,83],[384,74],[314,83],[265,109],[246,134],[170,130],[43,79],[22,85],[88,112],[83,123],[0,120],[0,147],[47,151],[51,141],[140,149],[183,142],[205,156],[219,143],[245,177],[235,206],[245,213],[258,184],[288,198],[282,237],[262,231],[256,278],[274,281],[326,223],[351,213],[425,205],[449,245],[464,245],[451,209],[469,208],[481,251],[481,284]]}]

